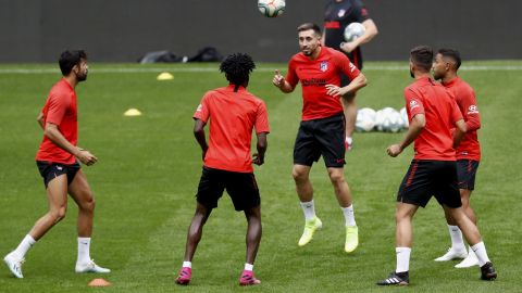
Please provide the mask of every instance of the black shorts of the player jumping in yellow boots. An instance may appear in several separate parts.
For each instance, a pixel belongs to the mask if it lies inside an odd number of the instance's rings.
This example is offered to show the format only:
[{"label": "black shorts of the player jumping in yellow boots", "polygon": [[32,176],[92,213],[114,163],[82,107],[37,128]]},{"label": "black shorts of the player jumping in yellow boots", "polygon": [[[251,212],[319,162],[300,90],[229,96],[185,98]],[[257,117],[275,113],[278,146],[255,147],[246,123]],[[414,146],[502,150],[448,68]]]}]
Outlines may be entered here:
[{"label": "black shorts of the player jumping in yellow boots", "polygon": [[345,115],[301,122],[294,145],[294,164],[312,166],[323,155],[326,167],[345,165]]}]

